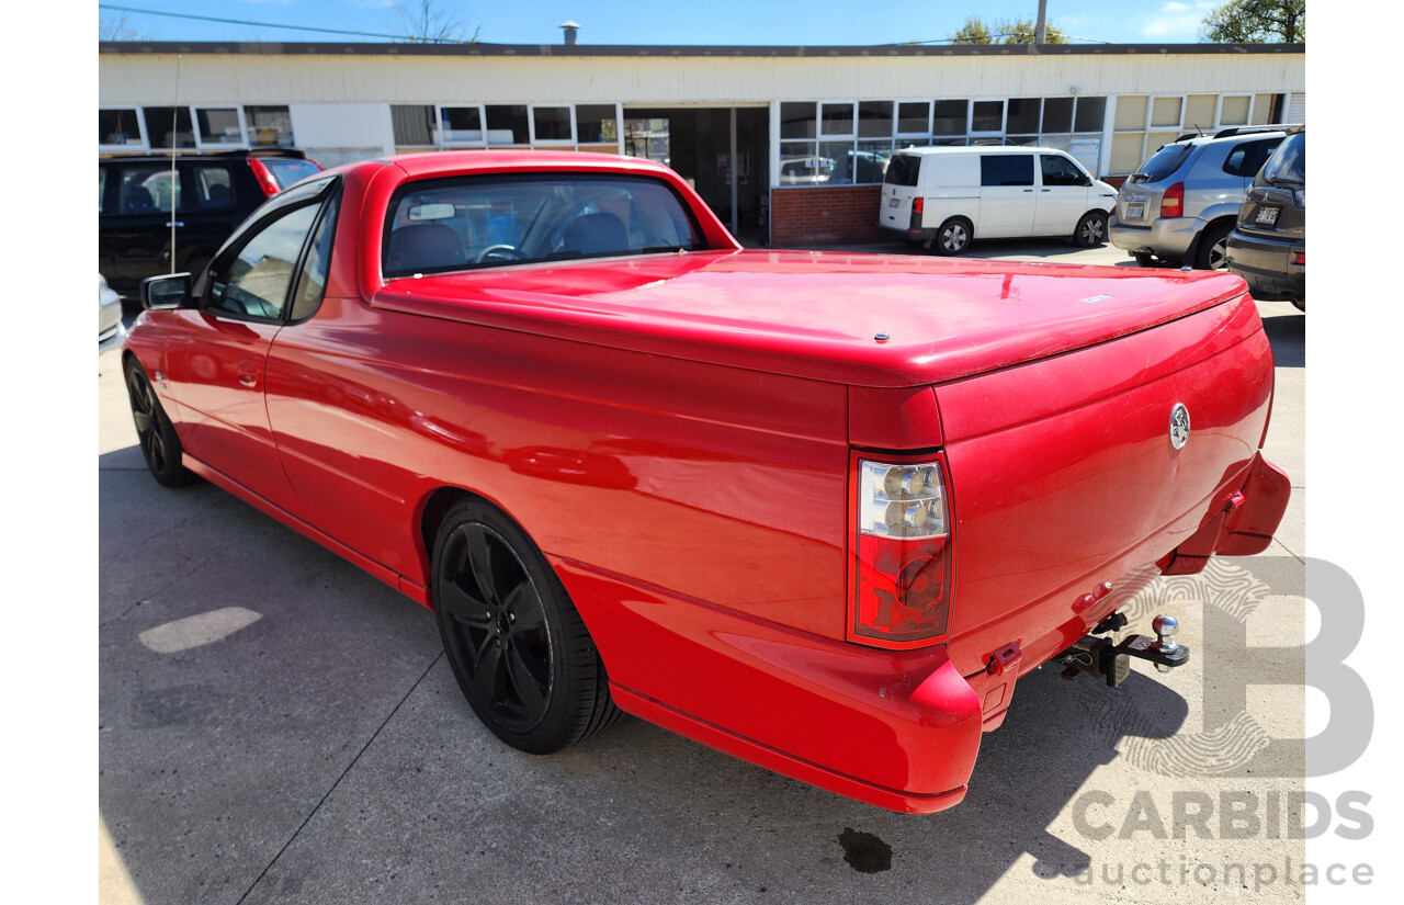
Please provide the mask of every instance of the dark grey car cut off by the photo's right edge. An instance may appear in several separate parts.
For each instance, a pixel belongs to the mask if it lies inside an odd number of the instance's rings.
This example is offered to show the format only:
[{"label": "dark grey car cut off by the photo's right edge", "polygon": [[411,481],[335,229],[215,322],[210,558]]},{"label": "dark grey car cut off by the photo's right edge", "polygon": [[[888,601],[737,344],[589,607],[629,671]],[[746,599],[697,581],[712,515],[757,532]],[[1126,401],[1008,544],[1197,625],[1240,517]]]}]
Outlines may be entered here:
[{"label": "dark grey car cut off by the photo's right edge", "polygon": [[1292,129],[1254,177],[1224,262],[1255,297],[1307,310],[1306,126]]}]

